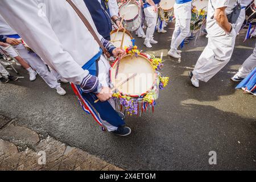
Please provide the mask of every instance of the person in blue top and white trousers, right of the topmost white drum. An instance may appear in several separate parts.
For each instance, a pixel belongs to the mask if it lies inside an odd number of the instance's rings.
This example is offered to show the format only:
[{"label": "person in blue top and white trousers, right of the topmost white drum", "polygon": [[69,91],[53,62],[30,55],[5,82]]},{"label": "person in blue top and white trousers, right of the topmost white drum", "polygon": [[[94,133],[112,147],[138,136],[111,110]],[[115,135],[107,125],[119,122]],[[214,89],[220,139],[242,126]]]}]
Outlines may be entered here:
[{"label": "person in blue top and white trousers, right of the topmost white drum", "polygon": [[151,44],[157,44],[158,42],[154,40],[154,32],[156,27],[156,22],[158,20],[158,3],[160,0],[143,0],[144,2],[144,14],[146,16],[147,22],[147,32],[144,45],[147,48],[152,48]]}]

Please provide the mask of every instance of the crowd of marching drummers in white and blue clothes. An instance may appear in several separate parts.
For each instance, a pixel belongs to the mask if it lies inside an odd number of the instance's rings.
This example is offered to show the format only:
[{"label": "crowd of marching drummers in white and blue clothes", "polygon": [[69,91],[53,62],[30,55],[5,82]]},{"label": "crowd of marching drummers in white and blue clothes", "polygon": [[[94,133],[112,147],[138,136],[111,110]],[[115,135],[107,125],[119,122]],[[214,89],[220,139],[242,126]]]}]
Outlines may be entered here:
[{"label": "crowd of marching drummers in white and blue clothes", "polygon": [[[141,6],[140,14],[146,22],[136,34],[144,39],[144,46],[152,48],[158,42],[155,30],[164,30],[166,21],[158,17],[160,0],[131,0]],[[127,1],[127,2],[131,2]],[[60,95],[65,94],[60,82],[71,82],[82,100],[84,110],[109,132],[127,136],[131,129],[125,126],[123,115],[115,111],[110,89],[110,64],[106,57],[126,55],[126,51],[114,47],[110,32],[123,29],[117,0],[1,0],[0,48],[18,61],[30,75],[30,81],[38,74]],[[207,82],[230,61],[236,36],[245,20],[245,7],[251,0],[209,0],[206,30],[208,44],[197,60],[195,69],[189,72],[192,85]],[[180,45],[188,37],[191,28],[192,0],[175,0],[175,30],[168,55],[181,58]],[[237,16],[239,15],[239,16]],[[144,22],[142,20],[142,22]],[[157,28],[156,28],[157,27]],[[25,43],[26,42],[26,43]],[[28,51],[28,46],[32,51]],[[242,64],[233,81],[246,80],[256,67],[256,48]],[[255,72],[255,71],[254,71]],[[16,81],[0,64],[0,81]],[[255,85],[247,88],[255,94]],[[96,100],[101,102],[95,102]]]}]

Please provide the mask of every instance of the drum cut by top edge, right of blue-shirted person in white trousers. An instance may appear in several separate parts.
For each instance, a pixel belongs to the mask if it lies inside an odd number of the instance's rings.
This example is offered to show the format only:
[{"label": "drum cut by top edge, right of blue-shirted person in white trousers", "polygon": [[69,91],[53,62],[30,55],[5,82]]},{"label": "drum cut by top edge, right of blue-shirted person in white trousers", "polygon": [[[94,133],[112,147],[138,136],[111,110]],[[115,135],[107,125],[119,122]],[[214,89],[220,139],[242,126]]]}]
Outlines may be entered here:
[{"label": "drum cut by top edge, right of blue-shirted person in white trousers", "polygon": [[170,20],[171,16],[174,14],[175,0],[161,0],[159,3],[158,14],[160,19],[163,21]]}]

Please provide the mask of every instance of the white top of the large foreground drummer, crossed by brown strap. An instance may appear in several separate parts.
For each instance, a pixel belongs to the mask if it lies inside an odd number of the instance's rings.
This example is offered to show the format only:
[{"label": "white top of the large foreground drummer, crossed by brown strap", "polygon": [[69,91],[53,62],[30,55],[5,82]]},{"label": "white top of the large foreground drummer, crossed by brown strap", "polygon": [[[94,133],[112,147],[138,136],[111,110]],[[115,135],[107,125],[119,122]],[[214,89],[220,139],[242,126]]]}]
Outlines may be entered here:
[{"label": "white top of the large foreground drummer, crossed by brown strap", "polygon": [[[73,0],[97,29],[84,1]],[[65,0],[1,0],[0,14],[46,63],[74,84],[88,75],[81,67],[100,47]]]}]

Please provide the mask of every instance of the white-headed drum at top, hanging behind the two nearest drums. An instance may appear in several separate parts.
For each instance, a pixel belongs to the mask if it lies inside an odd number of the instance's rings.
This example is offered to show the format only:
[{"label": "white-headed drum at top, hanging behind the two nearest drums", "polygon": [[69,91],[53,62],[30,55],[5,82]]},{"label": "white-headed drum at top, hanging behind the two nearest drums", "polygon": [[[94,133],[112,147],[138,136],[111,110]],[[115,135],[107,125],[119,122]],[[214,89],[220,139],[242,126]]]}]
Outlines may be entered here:
[{"label": "white-headed drum at top, hanging behind the two nearest drums", "polygon": [[137,31],[141,26],[140,7],[136,2],[125,2],[119,8],[119,16],[123,19],[123,24],[126,24],[126,29],[130,32]]}]

